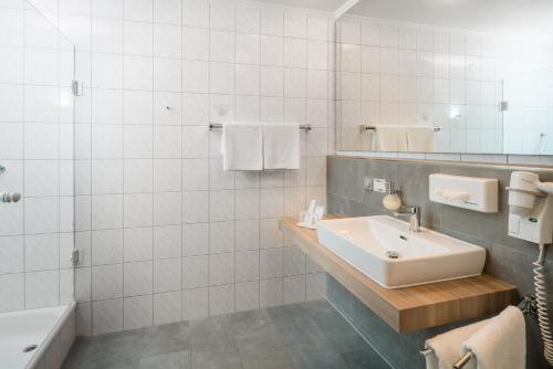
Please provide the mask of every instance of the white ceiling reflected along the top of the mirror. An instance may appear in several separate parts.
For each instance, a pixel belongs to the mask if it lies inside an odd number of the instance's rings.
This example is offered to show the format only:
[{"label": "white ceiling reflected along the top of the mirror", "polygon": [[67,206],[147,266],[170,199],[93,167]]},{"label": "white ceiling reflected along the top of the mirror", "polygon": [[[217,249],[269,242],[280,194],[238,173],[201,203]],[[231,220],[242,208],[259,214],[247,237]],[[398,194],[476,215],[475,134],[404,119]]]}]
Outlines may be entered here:
[{"label": "white ceiling reflected along the top of the mirror", "polygon": [[553,34],[553,0],[359,0],[348,13],[481,32]]}]

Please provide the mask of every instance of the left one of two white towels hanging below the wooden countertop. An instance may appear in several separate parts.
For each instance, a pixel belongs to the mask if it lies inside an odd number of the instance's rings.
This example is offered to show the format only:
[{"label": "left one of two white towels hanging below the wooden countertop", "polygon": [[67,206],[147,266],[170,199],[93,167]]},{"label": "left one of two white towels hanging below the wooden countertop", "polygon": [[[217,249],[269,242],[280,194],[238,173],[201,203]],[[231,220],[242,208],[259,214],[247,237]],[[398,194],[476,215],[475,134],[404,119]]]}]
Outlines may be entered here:
[{"label": "left one of two white towels hanging below the wooden countertop", "polygon": [[430,354],[426,356],[426,368],[451,369],[453,363],[461,357],[460,347],[462,342],[484,326],[487,321],[488,320],[477,321],[427,339],[425,348],[431,348],[434,355]]}]

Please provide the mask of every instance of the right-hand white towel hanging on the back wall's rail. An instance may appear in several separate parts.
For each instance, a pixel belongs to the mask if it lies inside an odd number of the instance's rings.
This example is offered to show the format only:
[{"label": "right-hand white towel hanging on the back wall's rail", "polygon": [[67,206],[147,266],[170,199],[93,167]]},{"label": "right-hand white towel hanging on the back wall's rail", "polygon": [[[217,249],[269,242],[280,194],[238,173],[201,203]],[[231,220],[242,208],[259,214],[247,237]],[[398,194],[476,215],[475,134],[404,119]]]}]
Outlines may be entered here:
[{"label": "right-hand white towel hanging on the back wall's rail", "polygon": [[263,124],[263,168],[300,169],[300,125]]}]

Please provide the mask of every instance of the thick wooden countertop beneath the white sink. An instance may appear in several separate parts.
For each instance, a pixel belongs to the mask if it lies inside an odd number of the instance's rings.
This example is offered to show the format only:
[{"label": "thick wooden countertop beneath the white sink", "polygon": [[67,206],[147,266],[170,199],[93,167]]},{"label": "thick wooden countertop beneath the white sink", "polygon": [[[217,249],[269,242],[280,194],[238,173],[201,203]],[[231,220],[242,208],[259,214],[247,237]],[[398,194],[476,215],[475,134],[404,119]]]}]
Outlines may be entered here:
[{"label": "thick wooden countertop beneath the white sink", "polygon": [[517,298],[513,285],[488,274],[404,288],[384,288],[320,244],[316,231],[295,223],[295,219],[284,218],[280,221],[280,229],[398,333],[499,313]]}]

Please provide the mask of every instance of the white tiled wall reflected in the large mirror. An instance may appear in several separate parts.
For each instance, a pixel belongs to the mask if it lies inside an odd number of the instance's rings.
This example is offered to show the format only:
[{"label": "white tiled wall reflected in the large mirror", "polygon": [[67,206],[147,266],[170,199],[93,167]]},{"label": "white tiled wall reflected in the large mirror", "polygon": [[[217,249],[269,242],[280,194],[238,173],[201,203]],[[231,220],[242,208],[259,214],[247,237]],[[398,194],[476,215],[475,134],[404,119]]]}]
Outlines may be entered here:
[{"label": "white tiled wall reflected in the large mirror", "polygon": [[[543,71],[553,63],[550,42],[357,17],[341,20],[337,34],[342,150],[373,149],[373,134],[359,135],[364,124],[441,127],[437,152],[539,154],[553,119],[552,76]],[[529,81],[529,71],[540,72]]]}]

